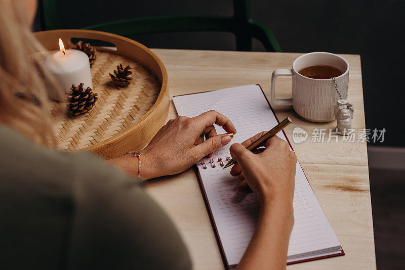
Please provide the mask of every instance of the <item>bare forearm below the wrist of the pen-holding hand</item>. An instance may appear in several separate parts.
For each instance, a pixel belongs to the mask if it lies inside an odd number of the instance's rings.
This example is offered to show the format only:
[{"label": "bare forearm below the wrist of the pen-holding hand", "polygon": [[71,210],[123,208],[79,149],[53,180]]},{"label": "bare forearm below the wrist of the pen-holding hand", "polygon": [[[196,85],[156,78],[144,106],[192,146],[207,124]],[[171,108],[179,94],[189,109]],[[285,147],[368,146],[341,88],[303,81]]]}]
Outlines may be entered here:
[{"label": "bare forearm below the wrist of the pen-holding hand", "polygon": [[237,269],[285,269],[293,225],[292,203],[263,203],[256,231]]}]

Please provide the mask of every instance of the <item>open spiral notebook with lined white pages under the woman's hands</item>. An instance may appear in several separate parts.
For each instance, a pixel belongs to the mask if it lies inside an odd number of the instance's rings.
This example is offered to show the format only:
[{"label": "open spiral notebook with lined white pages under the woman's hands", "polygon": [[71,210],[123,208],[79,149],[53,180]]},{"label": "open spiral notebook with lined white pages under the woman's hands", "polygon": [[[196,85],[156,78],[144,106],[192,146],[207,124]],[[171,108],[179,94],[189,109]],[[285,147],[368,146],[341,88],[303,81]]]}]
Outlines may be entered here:
[{"label": "open spiral notebook with lined white pages under the woman's hands", "polygon": [[[209,110],[227,116],[237,133],[232,142],[216,151],[210,159],[196,165],[199,180],[213,220],[218,243],[228,268],[237,265],[256,228],[260,205],[253,193],[239,193],[237,177],[223,165],[230,159],[229,147],[278,123],[260,85],[246,85],[217,91],[173,97],[178,115],[194,117]],[[217,133],[226,133],[215,126]],[[286,140],[284,131],[277,136]],[[290,144],[291,146],[291,144]],[[292,150],[292,149],[291,149]],[[344,255],[343,249],[323,213],[299,162],[294,191],[294,228],[287,263]]]}]

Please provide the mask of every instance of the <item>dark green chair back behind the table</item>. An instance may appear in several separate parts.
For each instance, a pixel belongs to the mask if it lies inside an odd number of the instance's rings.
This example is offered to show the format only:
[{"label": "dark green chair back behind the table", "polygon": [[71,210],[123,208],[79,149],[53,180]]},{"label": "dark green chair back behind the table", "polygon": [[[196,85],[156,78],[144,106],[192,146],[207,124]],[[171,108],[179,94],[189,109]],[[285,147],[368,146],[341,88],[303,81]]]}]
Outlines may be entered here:
[{"label": "dark green chair back behind the table", "polygon": [[[58,29],[57,0],[41,0],[44,30]],[[252,39],[259,40],[267,52],[282,52],[270,29],[250,16],[249,0],[233,0],[232,17],[216,15],[166,15],[132,18],[84,27],[123,36],[182,31],[230,32],[236,37],[237,51],[252,51]]]}]

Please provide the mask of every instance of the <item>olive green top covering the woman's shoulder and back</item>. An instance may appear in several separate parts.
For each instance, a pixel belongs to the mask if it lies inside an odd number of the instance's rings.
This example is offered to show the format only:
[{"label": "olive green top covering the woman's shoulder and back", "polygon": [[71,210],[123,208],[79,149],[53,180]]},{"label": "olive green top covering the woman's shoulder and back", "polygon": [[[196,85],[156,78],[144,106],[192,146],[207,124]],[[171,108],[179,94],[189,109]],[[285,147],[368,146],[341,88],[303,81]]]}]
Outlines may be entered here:
[{"label": "olive green top covering the woman's shoulder and back", "polygon": [[0,138],[0,268],[191,268],[173,222],[141,182],[1,124]]}]

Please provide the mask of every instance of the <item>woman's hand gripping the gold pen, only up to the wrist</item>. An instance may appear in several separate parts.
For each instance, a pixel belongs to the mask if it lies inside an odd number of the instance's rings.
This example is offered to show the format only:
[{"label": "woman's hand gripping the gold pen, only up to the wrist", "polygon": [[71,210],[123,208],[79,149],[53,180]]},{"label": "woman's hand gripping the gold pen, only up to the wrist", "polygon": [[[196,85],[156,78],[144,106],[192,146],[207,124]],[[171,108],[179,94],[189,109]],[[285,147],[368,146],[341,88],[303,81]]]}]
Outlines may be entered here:
[{"label": "woman's hand gripping the gold pen, only up to the wrist", "polygon": [[230,147],[231,156],[238,162],[230,173],[241,181],[237,189],[246,191],[250,187],[262,206],[277,200],[292,208],[297,156],[290,151],[288,143],[274,136],[262,145],[265,149],[255,153],[246,149],[266,132]]}]

